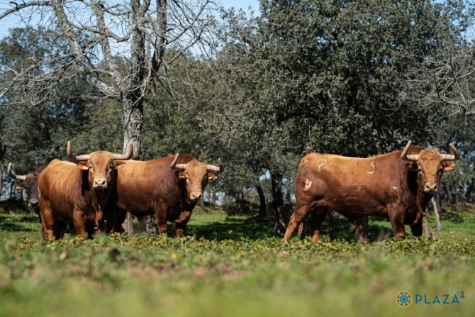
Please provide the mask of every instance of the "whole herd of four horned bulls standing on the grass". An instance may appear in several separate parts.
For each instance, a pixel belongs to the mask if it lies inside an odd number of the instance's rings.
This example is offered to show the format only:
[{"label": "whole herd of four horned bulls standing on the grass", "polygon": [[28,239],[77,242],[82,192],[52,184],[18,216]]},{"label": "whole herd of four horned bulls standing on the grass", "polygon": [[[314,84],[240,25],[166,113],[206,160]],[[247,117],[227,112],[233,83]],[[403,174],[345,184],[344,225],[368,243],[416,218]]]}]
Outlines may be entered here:
[{"label": "whole herd of four horned bulls standing on the grass", "polygon": [[[357,158],[316,153],[309,150],[301,158],[295,177],[296,208],[284,235],[311,214],[310,230],[318,243],[320,226],[327,210],[333,209],[353,222],[364,216],[389,218],[396,239],[422,234],[425,208],[440,187],[442,173],[453,169],[459,152],[453,155],[437,149],[411,146],[374,157]],[[128,153],[107,151],[73,155],[73,162],[52,160],[26,175],[7,174],[20,182],[16,189],[28,191],[28,205],[35,208],[43,239],[62,238],[69,226],[72,235],[93,238],[100,232],[121,232],[126,213],[155,214],[159,233],[174,223],[183,238],[191,213],[209,180],[223,172],[223,164],[206,165],[191,155],[174,155],[157,160],[130,160]]]}]

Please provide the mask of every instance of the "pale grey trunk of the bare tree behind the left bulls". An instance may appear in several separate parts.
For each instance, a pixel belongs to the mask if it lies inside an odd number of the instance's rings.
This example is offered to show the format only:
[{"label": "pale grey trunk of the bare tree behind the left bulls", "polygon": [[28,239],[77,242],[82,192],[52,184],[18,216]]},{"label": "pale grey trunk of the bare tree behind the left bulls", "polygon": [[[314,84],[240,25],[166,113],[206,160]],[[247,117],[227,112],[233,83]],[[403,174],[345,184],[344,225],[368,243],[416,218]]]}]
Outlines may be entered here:
[{"label": "pale grey trunk of the bare tree behind the left bulls", "polygon": [[[129,96],[130,97],[130,96]],[[129,145],[133,145],[133,160],[140,157],[140,143],[142,142],[142,126],[143,126],[143,98],[134,100],[124,98],[123,106],[123,152],[127,152]],[[145,228],[153,228],[155,225],[150,223],[150,216],[145,217]],[[125,216],[122,224],[123,230],[129,235],[133,235],[133,217],[129,213]],[[156,233],[155,233],[156,234]]]}]

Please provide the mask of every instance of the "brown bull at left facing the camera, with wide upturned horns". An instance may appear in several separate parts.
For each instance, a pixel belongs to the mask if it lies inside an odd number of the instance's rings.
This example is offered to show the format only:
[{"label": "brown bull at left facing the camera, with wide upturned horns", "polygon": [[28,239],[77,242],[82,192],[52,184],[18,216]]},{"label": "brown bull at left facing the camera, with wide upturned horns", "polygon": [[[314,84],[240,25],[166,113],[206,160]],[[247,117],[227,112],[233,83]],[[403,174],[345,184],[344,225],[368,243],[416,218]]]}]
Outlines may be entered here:
[{"label": "brown bull at left facing the camera, with wide upturned horns", "polygon": [[117,169],[132,157],[132,145],[126,155],[97,151],[74,156],[68,142],[67,155],[77,165],[52,160],[38,179],[43,238],[61,238],[67,224],[81,237],[110,231],[116,220]]}]

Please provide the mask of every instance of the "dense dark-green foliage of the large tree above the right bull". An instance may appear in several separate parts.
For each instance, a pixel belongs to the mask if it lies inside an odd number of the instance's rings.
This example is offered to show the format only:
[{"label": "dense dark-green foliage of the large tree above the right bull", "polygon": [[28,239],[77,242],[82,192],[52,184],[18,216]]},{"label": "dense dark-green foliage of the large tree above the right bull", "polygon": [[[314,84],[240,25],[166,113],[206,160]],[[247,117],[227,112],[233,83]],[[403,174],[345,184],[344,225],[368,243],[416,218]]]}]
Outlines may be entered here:
[{"label": "dense dark-green foliage of the large tree above the right bull", "polygon": [[220,55],[228,105],[223,138],[298,153],[363,156],[430,143],[435,111],[391,109],[398,78],[435,43],[456,38],[457,4],[430,1],[261,1],[261,16],[229,11]]}]

